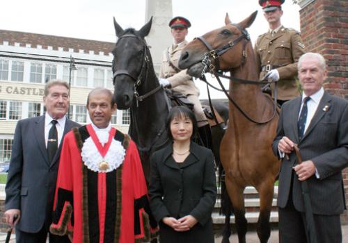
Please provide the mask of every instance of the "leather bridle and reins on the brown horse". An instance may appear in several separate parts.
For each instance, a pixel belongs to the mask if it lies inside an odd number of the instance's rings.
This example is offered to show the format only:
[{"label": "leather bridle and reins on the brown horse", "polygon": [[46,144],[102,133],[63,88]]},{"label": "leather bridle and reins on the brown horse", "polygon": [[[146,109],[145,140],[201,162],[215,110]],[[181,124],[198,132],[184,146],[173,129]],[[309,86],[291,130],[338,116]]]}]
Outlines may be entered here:
[{"label": "leather bridle and reins on the brown horse", "polygon": [[[274,119],[275,115],[276,115],[276,106],[277,106],[277,89],[274,89],[274,110],[273,110],[273,114],[271,115],[271,117],[269,119],[267,119],[266,121],[255,121],[254,119],[252,119],[251,117],[249,117],[246,112],[244,112],[244,110],[242,110],[242,108],[236,103],[236,101],[234,99],[232,99],[232,97],[230,97],[230,94],[228,94],[228,91],[226,90],[226,88],[223,86],[223,83],[221,82],[219,77],[223,77],[223,78],[228,78],[230,79],[230,81],[236,81],[239,83],[246,83],[246,84],[253,84],[253,85],[260,85],[263,83],[269,84],[269,81],[251,81],[251,80],[246,80],[243,78],[235,78],[233,76],[227,76],[227,75],[223,75],[220,67],[219,67],[219,57],[223,55],[223,53],[226,53],[226,51],[229,51],[230,49],[232,49],[232,47],[235,47],[235,45],[242,41],[242,40],[246,40],[246,42],[244,42],[243,45],[243,56],[242,56],[242,62],[241,65],[244,64],[245,60],[246,60],[246,43],[250,41],[250,37],[248,32],[246,31],[246,29],[241,28],[238,24],[232,24],[233,26],[237,27],[239,29],[239,31],[241,31],[242,35],[239,35],[239,37],[237,37],[235,40],[230,40],[228,42],[228,44],[223,45],[222,47],[218,48],[218,49],[213,49],[212,45],[209,44],[209,42],[207,42],[207,40],[205,40],[205,38],[203,36],[197,37],[198,40],[200,40],[201,42],[203,42],[203,44],[205,45],[205,47],[207,47],[208,52],[206,52],[204,54],[204,58],[203,60],[200,60],[200,62],[202,62],[202,64],[204,65],[203,67],[203,72],[201,74],[201,79],[205,82],[205,83],[209,83],[207,81],[207,79],[205,78],[205,72],[207,71],[207,69],[209,69],[209,72],[212,73],[216,80],[219,82],[219,85],[221,86],[222,91],[225,93],[226,97],[228,97],[228,100],[230,102],[233,103],[233,105],[239,110],[239,112],[242,113],[242,115],[244,115],[244,117],[246,117],[246,119],[248,119],[249,121],[255,123],[255,124],[267,124],[269,121],[271,121],[272,119]],[[215,65],[212,64],[212,58],[215,61]],[[240,65],[239,65],[240,66]],[[216,68],[217,67],[217,68]],[[234,67],[236,68],[236,67]],[[216,71],[217,70],[217,71]],[[275,82],[276,83],[276,82]]]}]

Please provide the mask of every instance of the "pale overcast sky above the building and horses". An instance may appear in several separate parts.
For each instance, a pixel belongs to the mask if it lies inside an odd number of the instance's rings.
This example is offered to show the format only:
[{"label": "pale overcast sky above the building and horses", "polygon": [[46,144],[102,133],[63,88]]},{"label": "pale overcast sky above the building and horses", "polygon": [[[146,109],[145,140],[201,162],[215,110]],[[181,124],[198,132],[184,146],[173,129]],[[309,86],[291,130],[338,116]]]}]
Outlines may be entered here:
[{"label": "pale overcast sky above the building and horses", "polygon": [[[268,29],[258,0],[172,0],[172,4],[173,17],[187,17],[192,24],[187,40],[223,26],[226,12],[238,23],[258,10],[248,28],[252,42]],[[299,9],[286,0],[282,24],[299,30]],[[1,1],[0,29],[116,42],[113,17],[122,28],[141,28],[148,21],[145,0]]]}]

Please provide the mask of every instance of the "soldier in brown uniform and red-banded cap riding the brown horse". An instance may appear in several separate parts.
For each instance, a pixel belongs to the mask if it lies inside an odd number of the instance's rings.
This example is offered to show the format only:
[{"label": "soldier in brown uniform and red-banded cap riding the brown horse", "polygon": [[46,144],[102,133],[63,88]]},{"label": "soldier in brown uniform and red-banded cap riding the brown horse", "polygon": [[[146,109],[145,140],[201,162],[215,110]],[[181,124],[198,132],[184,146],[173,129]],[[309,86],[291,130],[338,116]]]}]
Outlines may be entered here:
[{"label": "soldier in brown uniform and red-banded cap riding the brown horse", "polygon": [[[283,15],[281,4],[284,1],[259,0],[269,23],[269,31],[258,37],[254,49],[260,79],[278,81],[277,101],[280,106],[285,101],[300,96],[296,85],[296,66],[299,57],[305,52],[300,33],[292,28],[285,28],[280,22]],[[274,91],[274,84],[271,88]]]}]

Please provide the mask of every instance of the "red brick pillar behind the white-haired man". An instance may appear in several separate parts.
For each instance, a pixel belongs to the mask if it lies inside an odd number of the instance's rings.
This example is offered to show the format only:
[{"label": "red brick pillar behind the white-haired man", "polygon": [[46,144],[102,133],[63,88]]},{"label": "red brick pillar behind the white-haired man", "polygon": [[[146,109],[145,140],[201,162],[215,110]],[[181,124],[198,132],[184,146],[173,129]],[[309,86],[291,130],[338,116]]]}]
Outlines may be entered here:
[{"label": "red brick pillar behind the white-haired man", "polygon": [[[348,1],[299,0],[301,37],[307,51],[321,53],[328,69],[324,89],[348,99]],[[348,168],[343,171],[348,208]],[[348,212],[342,215],[348,224]]]}]

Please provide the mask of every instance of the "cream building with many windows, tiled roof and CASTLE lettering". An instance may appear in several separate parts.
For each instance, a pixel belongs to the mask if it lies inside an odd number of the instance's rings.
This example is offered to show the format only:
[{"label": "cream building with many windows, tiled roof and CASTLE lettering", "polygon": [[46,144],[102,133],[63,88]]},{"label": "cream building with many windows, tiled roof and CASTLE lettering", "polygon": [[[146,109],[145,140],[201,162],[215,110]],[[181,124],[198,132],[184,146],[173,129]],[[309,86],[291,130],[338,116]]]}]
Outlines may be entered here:
[{"label": "cream building with many windows, tiled roof and CASTLE lettering", "polygon": [[[87,95],[94,87],[113,90],[114,43],[0,30],[0,162],[10,160],[19,119],[45,113],[45,82],[71,81],[70,119],[88,124]],[[70,76],[70,56],[77,70]],[[71,78],[71,79],[70,79]],[[111,123],[127,133],[129,110],[117,110]]]}]

